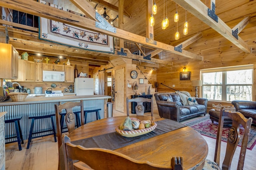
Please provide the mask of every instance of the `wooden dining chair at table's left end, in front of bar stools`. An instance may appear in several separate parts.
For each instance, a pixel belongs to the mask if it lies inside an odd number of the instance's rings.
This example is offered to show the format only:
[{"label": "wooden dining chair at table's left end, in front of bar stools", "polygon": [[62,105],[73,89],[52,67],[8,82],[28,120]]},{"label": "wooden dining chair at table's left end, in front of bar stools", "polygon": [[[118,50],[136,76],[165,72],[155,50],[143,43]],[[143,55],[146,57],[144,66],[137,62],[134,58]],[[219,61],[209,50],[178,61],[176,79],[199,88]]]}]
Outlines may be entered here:
[{"label": "wooden dining chair at table's left end, in front of bar stools", "polygon": [[[62,128],[61,128],[61,113],[62,110],[66,110],[65,120],[66,120],[66,125],[68,127],[68,133],[71,133],[75,129],[75,114],[73,112],[74,107],[80,107],[81,110],[81,125],[84,125],[84,104],[83,101],[80,100],[80,102],[66,102],[62,105],[57,105],[55,104],[55,115],[56,115],[56,127],[57,127],[57,139],[58,139],[58,149],[60,149],[62,145]],[[61,155],[59,153],[59,159]],[[60,170],[60,160],[59,160],[59,165],[58,165],[58,170]]]}]

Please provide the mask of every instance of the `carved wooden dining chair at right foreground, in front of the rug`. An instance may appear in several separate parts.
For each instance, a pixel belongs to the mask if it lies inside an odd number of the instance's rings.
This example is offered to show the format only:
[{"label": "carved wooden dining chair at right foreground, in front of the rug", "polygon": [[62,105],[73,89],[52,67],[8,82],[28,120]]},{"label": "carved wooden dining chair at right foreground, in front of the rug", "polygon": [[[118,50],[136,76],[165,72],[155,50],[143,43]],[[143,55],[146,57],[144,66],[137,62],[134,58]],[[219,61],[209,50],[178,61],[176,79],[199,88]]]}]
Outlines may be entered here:
[{"label": "carved wooden dining chair at right foreground, in front of the rug", "polygon": [[[206,160],[204,164],[204,170],[230,170],[231,162],[236,151],[236,147],[238,145],[239,140],[241,139],[239,134],[240,125],[244,128],[244,135],[242,138],[242,146],[239,154],[239,161],[237,170],[242,170],[244,167],[244,158],[247,148],[248,137],[250,133],[250,127],[252,124],[252,118],[245,118],[242,113],[238,111],[225,111],[225,107],[222,107],[220,110],[220,118],[215,146],[215,154],[214,154],[214,162],[210,160]],[[220,168],[220,147],[221,147],[221,137],[222,137],[222,129],[224,124],[224,117],[230,117],[232,119],[232,127],[228,132],[228,141],[226,147],[226,154],[224,157],[224,161],[222,163],[222,168]]]}]

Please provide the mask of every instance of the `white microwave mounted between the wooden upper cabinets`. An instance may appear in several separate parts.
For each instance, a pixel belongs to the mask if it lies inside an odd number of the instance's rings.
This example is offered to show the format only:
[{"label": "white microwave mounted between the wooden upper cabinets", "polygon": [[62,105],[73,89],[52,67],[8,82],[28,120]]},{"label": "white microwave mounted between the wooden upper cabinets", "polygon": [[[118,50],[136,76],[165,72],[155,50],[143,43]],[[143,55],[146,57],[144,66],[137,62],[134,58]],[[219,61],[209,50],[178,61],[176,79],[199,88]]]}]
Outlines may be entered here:
[{"label": "white microwave mounted between the wooden upper cabinets", "polygon": [[64,82],[64,71],[46,71],[43,70],[43,82]]}]

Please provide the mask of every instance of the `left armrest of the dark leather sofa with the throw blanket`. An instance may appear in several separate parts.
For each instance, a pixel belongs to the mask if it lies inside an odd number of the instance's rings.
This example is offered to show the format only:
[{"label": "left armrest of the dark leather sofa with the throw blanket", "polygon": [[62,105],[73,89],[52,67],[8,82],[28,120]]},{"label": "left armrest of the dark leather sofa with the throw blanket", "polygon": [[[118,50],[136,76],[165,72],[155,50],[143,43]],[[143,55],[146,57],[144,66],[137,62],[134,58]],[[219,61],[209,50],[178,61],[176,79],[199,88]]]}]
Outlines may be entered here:
[{"label": "left armrest of the dark leather sofa with the throw blanket", "polygon": [[180,106],[176,102],[156,100],[160,117],[180,121]]}]

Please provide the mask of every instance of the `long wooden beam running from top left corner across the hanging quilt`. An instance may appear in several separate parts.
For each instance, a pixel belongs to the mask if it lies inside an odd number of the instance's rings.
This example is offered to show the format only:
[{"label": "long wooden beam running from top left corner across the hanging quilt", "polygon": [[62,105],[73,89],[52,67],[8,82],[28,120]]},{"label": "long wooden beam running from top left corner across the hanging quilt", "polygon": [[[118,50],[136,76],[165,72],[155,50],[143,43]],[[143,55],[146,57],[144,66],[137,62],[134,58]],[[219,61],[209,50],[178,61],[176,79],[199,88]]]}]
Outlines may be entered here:
[{"label": "long wooden beam running from top left corner across the hanging quilt", "polygon": [[[32,14],[35,16],[48,18],[50,20],[68,23],[70,25],[89,29],[89,30],[103,33],[106,35],[110,35],[113,37],[127,39],[130,41],[136,42],[136,43],[147,45],[149,47],[153,47],[156,49],[162,49],[162,50],[170,52],[170,53],[188,57],[190,59],[196,59],[196,60],[200,60],[200,61],[203,60],[202,56],[185,51],[185,50],[182,50],[182,53],[175,51],[174,47],[171,45],[167,45],[167,44],[164,44],[161,42],[157,42],[157,45],[147,43],[146,37],[142,37],[140,35],[136,35],[134,33],[130,33],[128,31],[124,31],[122,29],[116,29],[116,33],[102,30],[100,28],[95,27],[95,21],[93,21],[93,20],[78,16],[76,14],[72,14],[70,12],[58,10],[51,6],[40,4],[39,2],[36,2],[34,0],[26,0],[26,1],[23,1],[23,0],[15,0],[15,1],[1,0],[0,6],[10,8],[10,9],[16,9],[20,12],[25,12],[25,13]],[[162,64],[164,64],[164,63],[162,63]]]}]

